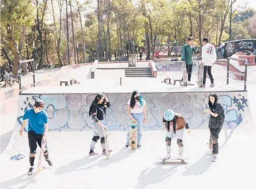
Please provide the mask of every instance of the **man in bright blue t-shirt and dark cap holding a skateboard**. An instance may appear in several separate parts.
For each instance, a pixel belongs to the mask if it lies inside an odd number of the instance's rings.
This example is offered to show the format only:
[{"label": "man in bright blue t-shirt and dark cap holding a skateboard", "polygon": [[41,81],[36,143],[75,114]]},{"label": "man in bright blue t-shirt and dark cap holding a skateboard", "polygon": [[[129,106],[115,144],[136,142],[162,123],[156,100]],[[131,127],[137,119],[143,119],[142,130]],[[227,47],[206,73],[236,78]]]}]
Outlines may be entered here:
[{"label": "man in bright blue t-shirt and dark cap holding a skateboard", "polygon": [[44,151],[43,156],[45,161],[53,166],[52,161],[49,159],[48,148],[46,143],[46,135],[48,133],[48,115],[43,110],[44,102],[43,100],[36,100],[34,108],[26,110],[23,116],[23,123],[19,131],[20,136],[22,137],[22,132],[24,127],[28,122],[28,145],[29,145],[29,163],[30,168],[28,170],[28,175],[32,175],[34,170],[34,161],[36,155],[37,144],[42,145],[42,140],[45,142],[46,151]]}]

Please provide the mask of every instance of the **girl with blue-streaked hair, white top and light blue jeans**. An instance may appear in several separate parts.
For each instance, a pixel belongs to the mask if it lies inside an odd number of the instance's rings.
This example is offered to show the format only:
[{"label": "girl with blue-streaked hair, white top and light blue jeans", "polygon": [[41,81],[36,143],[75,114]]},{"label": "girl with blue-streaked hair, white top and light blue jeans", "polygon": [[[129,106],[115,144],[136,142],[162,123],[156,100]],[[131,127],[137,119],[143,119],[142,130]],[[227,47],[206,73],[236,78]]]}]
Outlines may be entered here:
[{"label": "girl with blue-streaked hair, white top and light blue jeans", "polygon": [[[138,149],[142,148],[142,126],[147,120],[146,101],[142,98],[142,95],[134,90],[131,94],[131,98],[127,103],[127,113],[129,115],[129,122],[137,122],[138,124]],[[129,148],[129,129],[127,133],[126,148]]]}]

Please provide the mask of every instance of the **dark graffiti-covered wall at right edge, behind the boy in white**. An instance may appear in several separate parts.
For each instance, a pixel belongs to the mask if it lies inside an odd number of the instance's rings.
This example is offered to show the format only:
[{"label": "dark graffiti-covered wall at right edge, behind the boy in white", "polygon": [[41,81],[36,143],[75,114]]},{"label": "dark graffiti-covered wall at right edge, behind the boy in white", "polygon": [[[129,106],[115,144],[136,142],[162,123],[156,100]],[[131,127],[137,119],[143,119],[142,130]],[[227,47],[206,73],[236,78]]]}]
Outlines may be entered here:
[{"label": "dark graffiti-covered wall at right edge, behind the boy in white", "polygon": [[242,39],[225,42],[217,48],[217,59],[228,58],[239,51],[253,51],[254,47],[256,47],[256,39]]}]

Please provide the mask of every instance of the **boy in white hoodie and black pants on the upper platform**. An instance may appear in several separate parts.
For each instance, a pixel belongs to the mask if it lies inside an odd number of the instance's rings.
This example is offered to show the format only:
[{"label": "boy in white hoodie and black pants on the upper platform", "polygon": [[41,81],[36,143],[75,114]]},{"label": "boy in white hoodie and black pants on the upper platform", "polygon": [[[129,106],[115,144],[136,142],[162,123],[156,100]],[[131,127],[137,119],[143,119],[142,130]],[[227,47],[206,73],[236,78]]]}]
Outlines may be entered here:
[{"label": "boy in white hoodie and black pants on the upper platform", "polygon": [[208,38],[203,38],[203,47],[202,47],[202,63],[204,64],[203,68],[203,85],[202,87],[205,87],[206,82],[206,73],[208,73],[208,76],[211,80],[210,87],[214,87],[214,79],[212,75],[212,66],[213,63],[215,63],[217,56],[216,56],[216,50],[212,44],[209,43]]}]

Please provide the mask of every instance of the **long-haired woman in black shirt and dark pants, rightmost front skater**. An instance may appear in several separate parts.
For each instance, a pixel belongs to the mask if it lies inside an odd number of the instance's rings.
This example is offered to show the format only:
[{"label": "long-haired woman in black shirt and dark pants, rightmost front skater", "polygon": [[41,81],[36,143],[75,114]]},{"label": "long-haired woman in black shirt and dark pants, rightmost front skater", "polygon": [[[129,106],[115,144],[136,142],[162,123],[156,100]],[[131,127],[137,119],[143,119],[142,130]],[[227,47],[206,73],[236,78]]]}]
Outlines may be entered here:
[{"label": "long-haired woman in black shirt and dark pants, rightmost front skater", "polygon": [[209,95],[208,105],[210,109],[204,110],[204,113],[210,114],[208,127],[210,129],[209,149],[211,152],[208,155],[213,155],[212,161],[215,162],[217,160],[217,154],[219,153],[218,138],[224,124],[225,114],[224,107],[219,102],[216,93],[211,93]]}]

